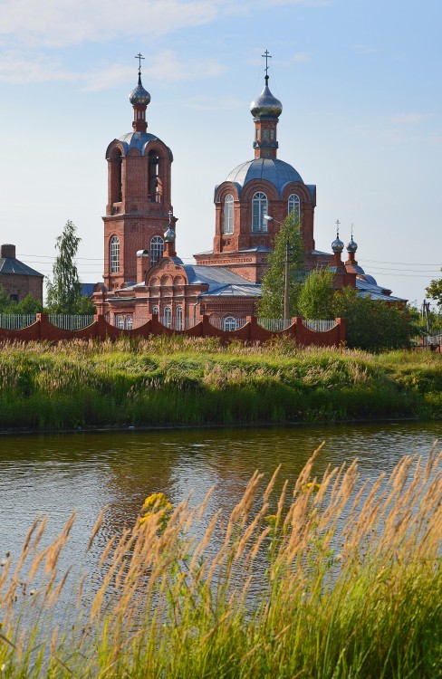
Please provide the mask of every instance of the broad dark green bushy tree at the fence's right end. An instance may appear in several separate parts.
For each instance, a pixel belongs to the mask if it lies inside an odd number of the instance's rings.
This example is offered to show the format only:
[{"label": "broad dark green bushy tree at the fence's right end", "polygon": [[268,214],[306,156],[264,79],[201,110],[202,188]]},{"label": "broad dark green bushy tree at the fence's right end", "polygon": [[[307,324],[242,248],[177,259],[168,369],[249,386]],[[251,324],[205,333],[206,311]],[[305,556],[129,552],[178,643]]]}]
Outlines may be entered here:
[{"label": "broad dark green bushy tree at the fence's right end", "polygon": [[416,334],[408,308],[357,294],[354,288],[342,288],[335,295],[336,318],[345,319],[345,337],[351,348],[379,351],[408,347]]}]

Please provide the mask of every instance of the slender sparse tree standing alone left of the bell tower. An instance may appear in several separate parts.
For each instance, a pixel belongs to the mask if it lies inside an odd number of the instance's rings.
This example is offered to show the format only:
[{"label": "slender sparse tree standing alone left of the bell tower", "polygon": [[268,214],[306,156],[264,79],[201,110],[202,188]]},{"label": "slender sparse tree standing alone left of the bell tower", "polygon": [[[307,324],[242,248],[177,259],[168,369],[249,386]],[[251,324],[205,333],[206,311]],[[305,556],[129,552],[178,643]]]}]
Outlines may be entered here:
[{"label": "slender sparse tree standing alone left of the bell tower", "polygon": [[68,219],[62,234],[55,242],[59,254],[53,264],[53,281],[47,282],[47,308],[51,313],[93,313],[94,306],[82,297],[82,283],[78,277],[75,257],[81,238]]}]

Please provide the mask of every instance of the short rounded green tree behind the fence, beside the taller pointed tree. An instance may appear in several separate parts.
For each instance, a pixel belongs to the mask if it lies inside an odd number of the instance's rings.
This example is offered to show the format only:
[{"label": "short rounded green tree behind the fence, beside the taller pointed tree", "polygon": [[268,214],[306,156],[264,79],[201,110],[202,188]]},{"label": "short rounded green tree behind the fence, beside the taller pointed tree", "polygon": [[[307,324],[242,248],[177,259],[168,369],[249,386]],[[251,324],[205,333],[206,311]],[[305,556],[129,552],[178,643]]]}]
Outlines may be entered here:
[{"label": "short rounded green tree behind the fence, beside the taller pointed tree", "polygon": [[330,269],[315,269],[299,292],[298,311],[305,319],[334,319],[335,292]]}]

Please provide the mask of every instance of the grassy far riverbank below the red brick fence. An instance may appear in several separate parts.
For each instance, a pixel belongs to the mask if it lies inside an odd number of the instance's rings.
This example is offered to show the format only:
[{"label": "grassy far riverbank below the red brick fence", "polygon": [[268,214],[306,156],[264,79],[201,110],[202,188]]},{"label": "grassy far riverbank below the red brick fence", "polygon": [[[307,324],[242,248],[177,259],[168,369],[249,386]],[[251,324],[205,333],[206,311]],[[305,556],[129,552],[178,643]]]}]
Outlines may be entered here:
[{"label": "grassy far riverbank below the red brick fence", "polygon": [[156,337],[4,344],[0,429],[241,426],[442,417],[442,357]]}]

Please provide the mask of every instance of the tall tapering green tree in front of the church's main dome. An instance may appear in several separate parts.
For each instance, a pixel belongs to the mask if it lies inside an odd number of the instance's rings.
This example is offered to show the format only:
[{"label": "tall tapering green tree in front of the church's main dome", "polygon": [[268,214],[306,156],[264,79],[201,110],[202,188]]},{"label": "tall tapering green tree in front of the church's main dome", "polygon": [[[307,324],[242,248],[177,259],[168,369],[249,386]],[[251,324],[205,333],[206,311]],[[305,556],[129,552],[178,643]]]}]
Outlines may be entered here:
[{"label": "tall tapering green tree in front of the church's main dome", "polygon": [[259,316],[262,319],[282,319],[285,285],[285,259],[288,250],[289,318],[298,314],[298,297],[305,276],[303,236],[299,218],[293,212],[287,216],[274,238],[268,269],[263,276]]}]

